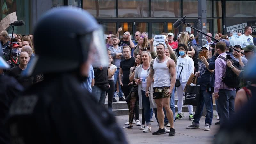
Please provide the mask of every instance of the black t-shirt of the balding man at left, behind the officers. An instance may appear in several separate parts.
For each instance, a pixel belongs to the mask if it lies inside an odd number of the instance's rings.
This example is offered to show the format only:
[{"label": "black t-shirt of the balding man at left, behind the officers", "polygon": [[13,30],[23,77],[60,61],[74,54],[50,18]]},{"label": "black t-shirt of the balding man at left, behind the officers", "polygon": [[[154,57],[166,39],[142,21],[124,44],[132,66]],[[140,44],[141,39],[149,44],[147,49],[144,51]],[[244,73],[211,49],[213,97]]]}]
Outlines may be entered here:
[{"label": "black t-shirt of the balding man at left, behind the officers", "polygon": [[10,76],[13,76],[24,88],[28,88],[33,84],[34,77],[22,77],[20,76],[22,69],[19,65],[10,69]]}]

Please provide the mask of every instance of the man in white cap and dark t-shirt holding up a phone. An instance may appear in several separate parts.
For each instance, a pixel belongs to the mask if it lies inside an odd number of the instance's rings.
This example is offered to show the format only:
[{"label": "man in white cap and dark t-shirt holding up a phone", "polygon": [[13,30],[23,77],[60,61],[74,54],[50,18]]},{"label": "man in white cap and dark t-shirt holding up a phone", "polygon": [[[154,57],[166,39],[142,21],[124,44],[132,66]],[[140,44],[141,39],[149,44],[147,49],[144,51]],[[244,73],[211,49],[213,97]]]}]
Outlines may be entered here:
[{"label": "man in white cap and dark t-shirt holding up a phone", "polygon": [[199,71],[195,73],[197,78],[197,84],[200,85],[200,99],[199,105],[196,107],[196,112],[194,116],[194,121],[191,125],[187,126],[187,129],[195,129],[199,128],[199,121],[202,116],[202,111],[205,103],[205,107],[207,110],[206,118],[205,118],[205,125],[204,130],[209,131],[212,124],[212,90],[209,86],[210,84],[210,75],[214,70],[210,70],[209,60],[210,60],[210,46],[205,44],[202,47],[202,52],[206,52],[206,58],[204,56],[200,56],[200,63],[199,63]]}]

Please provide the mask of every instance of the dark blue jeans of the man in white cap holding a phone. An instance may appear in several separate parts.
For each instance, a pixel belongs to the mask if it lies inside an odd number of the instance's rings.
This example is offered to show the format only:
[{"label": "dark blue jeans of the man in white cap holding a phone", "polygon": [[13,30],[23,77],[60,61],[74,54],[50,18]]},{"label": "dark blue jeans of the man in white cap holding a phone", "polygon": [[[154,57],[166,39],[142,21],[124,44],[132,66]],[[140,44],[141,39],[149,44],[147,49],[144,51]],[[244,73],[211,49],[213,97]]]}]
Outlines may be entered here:
[{"label": "dark blue jeans of the man in white cap holding a phone", "polygon": [[201,90],[200,91],[200,99],[198,101],[195,115],[194,115],[194,123],[199,124],[200,118],[203,114],[203,108],[206,108],[206,118],[204,123],[206,124],[212,124],[212,94],[209,92],[206,92],[206,90]]}]

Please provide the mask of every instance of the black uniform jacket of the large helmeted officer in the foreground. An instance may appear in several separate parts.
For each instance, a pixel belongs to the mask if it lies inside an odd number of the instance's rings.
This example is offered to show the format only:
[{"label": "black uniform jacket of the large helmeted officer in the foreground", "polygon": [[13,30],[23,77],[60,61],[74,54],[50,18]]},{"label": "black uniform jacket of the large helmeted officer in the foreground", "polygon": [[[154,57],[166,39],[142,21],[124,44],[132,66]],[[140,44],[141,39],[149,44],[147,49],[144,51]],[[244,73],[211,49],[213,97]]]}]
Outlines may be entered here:
[{"label": "black uniform jacket of the large helmeted officer in the foreground", "polygon": [[127,144],[116,118],[98,105],[78,78],[72,74],[44,76],[44,81],[12,103],[8,119],[11,143]]}]

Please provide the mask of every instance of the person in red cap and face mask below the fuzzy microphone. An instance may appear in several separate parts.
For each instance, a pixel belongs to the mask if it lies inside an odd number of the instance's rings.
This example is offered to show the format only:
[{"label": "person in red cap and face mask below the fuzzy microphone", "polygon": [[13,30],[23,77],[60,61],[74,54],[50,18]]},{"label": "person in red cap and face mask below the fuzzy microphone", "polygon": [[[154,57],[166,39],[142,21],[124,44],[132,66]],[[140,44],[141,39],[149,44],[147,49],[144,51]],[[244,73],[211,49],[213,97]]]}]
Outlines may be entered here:
[{"label": "person in red cap and face mask below the fuzzy microphone", "polygon": [[20,53],[18,52],[19,48],[21,46],[19,45],[18,42],[12,42],[12,49],[10,55],[7,53],[4,53],[4,60],[11,65],[11,68],[19,65],[19,56]]}]

